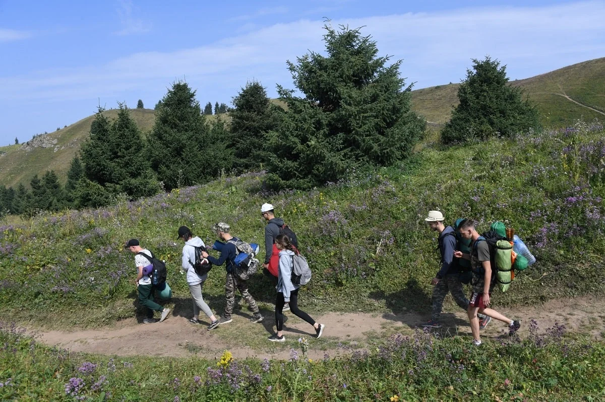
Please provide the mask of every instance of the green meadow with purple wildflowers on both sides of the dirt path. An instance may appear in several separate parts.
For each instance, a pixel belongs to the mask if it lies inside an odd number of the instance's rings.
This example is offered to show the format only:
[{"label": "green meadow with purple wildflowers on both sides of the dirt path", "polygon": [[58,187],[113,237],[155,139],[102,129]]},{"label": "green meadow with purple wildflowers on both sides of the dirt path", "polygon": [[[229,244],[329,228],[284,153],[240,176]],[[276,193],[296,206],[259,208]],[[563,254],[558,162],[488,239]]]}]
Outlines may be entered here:
[{"label": "green meadow with purple wildflowers on both sides of the dirt path", "polygon": [[[165,305],[189,306],[178,227],[208,244],[212,225],[227,222],[234,235],[263,244],[264,202],[296,232],[309,260],[313,278],[301,307],[312,312],[426,309],[438,264],[436,237],[423,220],[431,209],[447,222],[474,219],[480,232],[502,220],[531,249],[538,263],[495,295],[499,305],[603,295],[604,136],[598,122],[583,121],[465,146],[427,136],[396,168],[349,171],[311,191],[267,192],[263,172],[221,174],[207,185],[100,209],[5,217],[0,400],[604,400],[605,344],[558,325],[538,328],[539,318],[528,337],[480,348],[417,331],[379,339],[375,348],[341,345],[347,357],[312,360],[313,343],[301,337],[284,345],[292,348],[287,361],[237,360],[228,351],[217,361],[89,356],[42,345],[19,329],[92,328],[142,316],[133,256],[123,249],[133,237],[166,261],[180,298]],[[250,293],[272,302],[275,290],[257,275]],[[206,295],[224,295],[223,267],[209,273]]]}]

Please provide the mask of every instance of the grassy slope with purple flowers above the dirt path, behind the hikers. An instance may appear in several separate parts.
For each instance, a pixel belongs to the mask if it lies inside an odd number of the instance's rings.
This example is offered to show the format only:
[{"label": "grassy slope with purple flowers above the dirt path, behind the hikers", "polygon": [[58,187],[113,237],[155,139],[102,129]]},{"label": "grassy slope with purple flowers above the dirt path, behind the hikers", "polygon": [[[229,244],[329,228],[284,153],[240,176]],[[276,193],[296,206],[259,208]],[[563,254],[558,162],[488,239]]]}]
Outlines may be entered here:
[{"label": "grassy slope with purple flowers above the dirt path, behind the hikers", "polygon": [[[266,194],[263,174],[250,173],[102,209],[6,222],[0,302],[13,319],[44,327],[87,328],[132,317],[133,257],[122,244],[136,237],[167,261],[175,296],[186,299],[169,305],[189,308],[179,274],[182,246],[174,241],[178,226],[212,243],[212,225],[228,222],[234,235],[262,243],[264,202],[295,229],[312,263],[313,281],[301,292],[302,307],[311,312],[426,311],[437,268],[435,236],[422,220],[431,209],[452,222],[476,219],[480,231],[503,220],[531,247],[540,263],[498,295],[504,305],[602,293],[602,137],[602,127],[584,124],[573,133],[467,147],[442,147],[429,136],[399,167],[359,171],[310,192]],[[218,311],[223,281],[223,268],[215,268],[204,286]],[[250,292],[272,302],[275,290],[260,275]],[[83,304],[96,308],[82,316]]]}]

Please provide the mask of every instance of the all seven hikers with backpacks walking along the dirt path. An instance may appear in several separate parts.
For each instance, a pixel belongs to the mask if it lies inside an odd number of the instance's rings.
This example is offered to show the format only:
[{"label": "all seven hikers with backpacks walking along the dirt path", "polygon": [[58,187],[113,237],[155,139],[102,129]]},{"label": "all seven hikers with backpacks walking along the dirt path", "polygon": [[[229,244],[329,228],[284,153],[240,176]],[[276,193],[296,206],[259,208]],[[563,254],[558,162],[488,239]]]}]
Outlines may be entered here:
[{"label": "all seven hikers with backpacks walking along the dirt path", "polygon": [[[311,278],[309,264],[298,250],[298,238],[284,223],[283,219],[275,217],[275,209],[269,203],[261,206],[261,215],[267,221],[264,228],[265,257],[263,273],[269,278],[276,289],[275,298],[275,334],[269,336],[272,342],[284,342],[283,334],[284,312],[290,310],[313,326],[316,337],[321,337],[325,325],[319,324],[306,312],[298,308],[298,292],[302,285]],[[479,234],[475,224],[470,219],[458,219],[452,226],[445,226],[445,218],[440,211],[428,212],[425,221],[430,229],[439,233],[438,244],[440,252],[440,269],[431,280],[434,286],[432,296],[431,319],[425,328],[440,328],[440,315],[443,301],[451,293],[456,304],[468,314],[473,344],[480,345],[480,330],[483,330],[492,319],[508,325],[509,334],[514,334],[520,328],[518,320],[509,319],[498,311],[490,308],[492,290],[499,284],[503,292],[508,289],[515,270],[523,270],[535,262],[535,258],[523,241],[514,235],[512,229],[505,228],[502,222],[495,222],[491,230]],[[185,242],[181,267],[186,272],[189,292],[193,300],[193,324],[200,323],[200,311],[209,319],[208,330],[233,321],[232,314],[235,305],[235,292],[239,291],[252,311],[250,321],[262,322],[257,302],[250,295],[248,279],[257,272],[261,265],[257,260],[260,246],[246,243],[231,234],[231,227],[219,222],[212,227],[218,240],[211,247],[200,237],[195,236],[187,226],[178,228],[177,240]],[[137,266],[136,286],[139,301],[146,308],[146,318],[143,323],[155,322],[154,311],[161,313],[159,321],[168,317],[170,310],[163,308],[154,301],[154,293],[159,298],[167,299],[172,295],[166,284],[166,266],[163,261],[154,257],[151,251],[144,249],[139,240],[131,239],[125,244],[135,253]],[[209,249],[220,252],[219,257],[209,254]],[[226,305],[223,316],[216,316],[204,301],[202,289],[212,266],[223,266],[226,269],[225,296]],[[471,284],[470,297],[467,299],[463,291],[464,284]]]}]

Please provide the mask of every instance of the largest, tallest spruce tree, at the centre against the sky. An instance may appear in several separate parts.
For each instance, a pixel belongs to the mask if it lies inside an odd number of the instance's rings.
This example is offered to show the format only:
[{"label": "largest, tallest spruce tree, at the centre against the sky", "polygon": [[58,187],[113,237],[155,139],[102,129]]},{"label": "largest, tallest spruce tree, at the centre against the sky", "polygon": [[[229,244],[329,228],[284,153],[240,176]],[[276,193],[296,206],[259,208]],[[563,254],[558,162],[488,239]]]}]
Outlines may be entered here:
[{"label": "largest, tallest spruce tree, at the centre against the sky", "polygon": [[310,188],[336,181],[360,165],[392,165],[406,158],[426,122],[410,107],[401,60],[387,66],[376,42],[359,29],[326,25],[327,57],[311,52],[288,62],[296,88],[278,86],[286,121],[269,135],[267,183]]}]

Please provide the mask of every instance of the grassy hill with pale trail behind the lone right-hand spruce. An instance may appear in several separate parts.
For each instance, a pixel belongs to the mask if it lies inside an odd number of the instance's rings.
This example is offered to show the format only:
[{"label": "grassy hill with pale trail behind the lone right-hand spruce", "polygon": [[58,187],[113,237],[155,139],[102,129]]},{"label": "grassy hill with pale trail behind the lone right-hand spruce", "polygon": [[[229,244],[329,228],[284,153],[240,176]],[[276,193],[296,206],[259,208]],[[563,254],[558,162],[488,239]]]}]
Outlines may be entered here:
[{"label": "grassy hill with pale trail behind the lone right-hand spruce", "polygon": [[[541,123],[546,127],[572,126],[581,116],[586,121],[605,120],[605,115],[599,113],[605,113],[605,57],[511,81],[511,85],[522,88],[537,105]],[[438,85],[412,91],[412,107],[428,121],[444,124],[458,104],[458,86]]]}]

